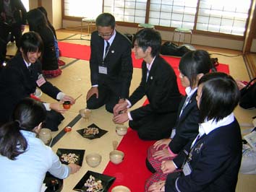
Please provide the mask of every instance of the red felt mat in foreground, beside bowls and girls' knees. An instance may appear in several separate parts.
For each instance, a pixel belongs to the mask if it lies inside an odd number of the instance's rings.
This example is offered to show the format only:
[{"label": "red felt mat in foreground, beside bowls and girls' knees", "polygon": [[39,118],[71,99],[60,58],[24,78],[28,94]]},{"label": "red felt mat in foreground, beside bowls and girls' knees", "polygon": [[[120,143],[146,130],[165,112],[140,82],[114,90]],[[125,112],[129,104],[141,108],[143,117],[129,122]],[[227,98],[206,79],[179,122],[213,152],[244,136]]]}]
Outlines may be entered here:
[{"label": "red felt mat in foreground, beside bowls and girls' knees", "polygon": [[[155,141],[142,141],[137,131],[128,129],[127,134],[121,140],[118,150],[124,152],[124,161],[119,165],[108,162],[103,174],[116,178],[111,186],[127,186],[131,191],[144,191],[144,183],[151,173],[145,167],[145,157],[148,147]],[[111,191],[111,190],[109,190]]]}]

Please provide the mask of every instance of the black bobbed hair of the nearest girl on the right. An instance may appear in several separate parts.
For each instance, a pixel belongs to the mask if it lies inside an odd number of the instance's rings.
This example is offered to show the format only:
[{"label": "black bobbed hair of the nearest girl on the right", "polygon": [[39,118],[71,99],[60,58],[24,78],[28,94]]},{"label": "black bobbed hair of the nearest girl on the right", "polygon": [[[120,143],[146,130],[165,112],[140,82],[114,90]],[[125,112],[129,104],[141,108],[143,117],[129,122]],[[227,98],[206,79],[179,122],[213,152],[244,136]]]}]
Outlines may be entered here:
[{"label": "black bobbed hair of the nearest girl on the right", "polygon": [[229,74],[214,72],[205,74],[198,82],[202,84],[200,99],[200,123],[207,120],[220,121],[231,114],[238,105],[240,92]]}]

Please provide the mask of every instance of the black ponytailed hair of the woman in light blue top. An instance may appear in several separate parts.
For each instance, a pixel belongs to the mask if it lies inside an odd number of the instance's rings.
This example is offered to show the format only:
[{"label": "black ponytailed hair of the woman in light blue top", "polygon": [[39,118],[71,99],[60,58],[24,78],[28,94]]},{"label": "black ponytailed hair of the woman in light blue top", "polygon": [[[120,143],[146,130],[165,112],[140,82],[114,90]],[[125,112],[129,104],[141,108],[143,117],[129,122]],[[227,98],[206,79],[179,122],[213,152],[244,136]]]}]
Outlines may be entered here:
[{"label": "black ponytailed hair of the woman in light blue top", "polygon": [[0,127],[0,154],[9,160],[27,149],[27,141],[20,130],[33,129],[46,118],[46,109],[41,102],[31,98],[22,99],[14,108],[13,121]]}]

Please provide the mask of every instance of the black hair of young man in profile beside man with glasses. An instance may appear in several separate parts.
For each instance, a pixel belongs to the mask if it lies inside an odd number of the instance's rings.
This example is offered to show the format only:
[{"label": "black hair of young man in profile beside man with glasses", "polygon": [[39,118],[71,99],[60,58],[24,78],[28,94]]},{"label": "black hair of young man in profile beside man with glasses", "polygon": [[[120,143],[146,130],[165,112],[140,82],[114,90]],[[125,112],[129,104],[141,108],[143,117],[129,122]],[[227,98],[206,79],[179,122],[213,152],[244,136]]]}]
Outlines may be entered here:
[{"label": "black hair of young man in profile beside man with glasses", "polygon": [[152,49],[151,56],[154,57],[159,55],[162,38],[158,31],[150,28],[142,29],[135,34],[132,45],[135,44],[135,41],[137,42],[137,45],[142,48],[143,51],[146,51],[146,49],[150,47]]}]

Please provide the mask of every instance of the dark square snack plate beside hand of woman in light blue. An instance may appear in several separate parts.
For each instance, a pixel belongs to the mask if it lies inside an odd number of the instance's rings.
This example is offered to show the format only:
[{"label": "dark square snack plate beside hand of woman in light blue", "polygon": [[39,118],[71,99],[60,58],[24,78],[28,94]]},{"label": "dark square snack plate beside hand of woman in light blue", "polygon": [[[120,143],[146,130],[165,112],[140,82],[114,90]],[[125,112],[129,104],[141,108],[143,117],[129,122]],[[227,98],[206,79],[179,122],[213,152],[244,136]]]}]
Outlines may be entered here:
[{"label": "dark square snack plate beside hand of woman in light blue", "polygon": [[82,166],[82,160],[84,159],[85,150],[82,149],[58,149],[57,155],[59,160],[66,165],[74,163]]}]

